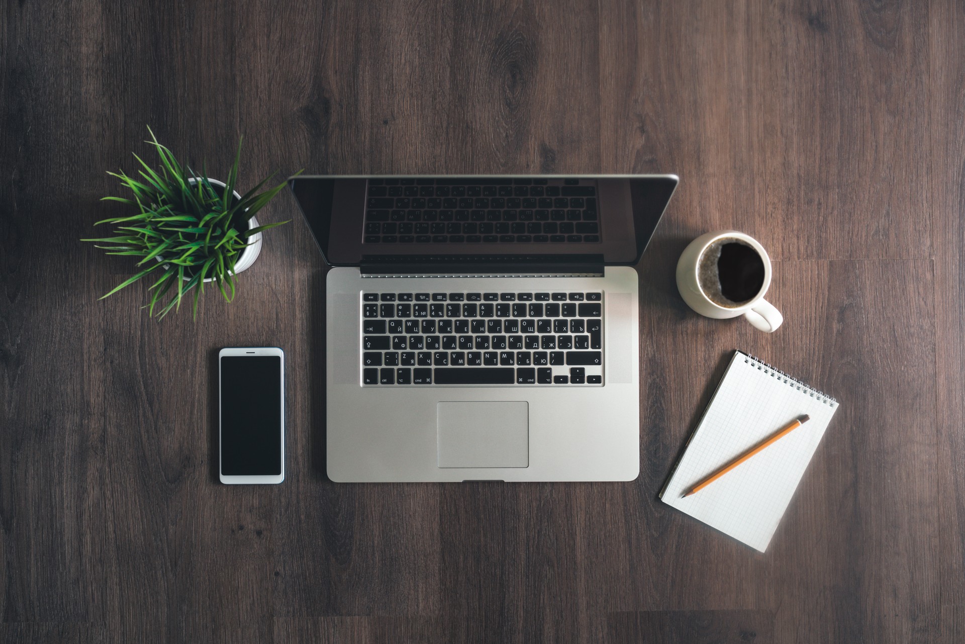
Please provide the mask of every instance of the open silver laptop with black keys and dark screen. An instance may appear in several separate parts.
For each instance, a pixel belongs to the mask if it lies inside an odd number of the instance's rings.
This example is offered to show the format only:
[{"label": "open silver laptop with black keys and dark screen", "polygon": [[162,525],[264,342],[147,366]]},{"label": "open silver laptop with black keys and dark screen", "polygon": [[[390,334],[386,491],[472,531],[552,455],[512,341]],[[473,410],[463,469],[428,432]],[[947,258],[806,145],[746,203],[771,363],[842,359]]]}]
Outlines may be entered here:
[{"label": "open silver laptop with black keys and dark screen", "polygon": [[630,481],[638,276],[674,175],[299,176],[337,482]]}]

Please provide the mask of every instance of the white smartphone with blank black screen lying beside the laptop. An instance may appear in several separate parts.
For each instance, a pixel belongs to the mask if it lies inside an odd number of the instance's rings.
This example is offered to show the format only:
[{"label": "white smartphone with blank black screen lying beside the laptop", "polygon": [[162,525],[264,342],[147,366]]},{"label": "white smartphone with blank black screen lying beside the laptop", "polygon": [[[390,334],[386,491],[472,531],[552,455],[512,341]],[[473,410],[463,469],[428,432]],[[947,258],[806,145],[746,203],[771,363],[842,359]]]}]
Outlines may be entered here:
[{"label": "white smartphone with blank black screen lying beside the laptop", "polygon": [[222,483],[285,480],[285,351],[218,351],[218,476]]}]

